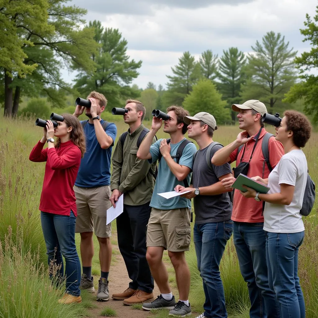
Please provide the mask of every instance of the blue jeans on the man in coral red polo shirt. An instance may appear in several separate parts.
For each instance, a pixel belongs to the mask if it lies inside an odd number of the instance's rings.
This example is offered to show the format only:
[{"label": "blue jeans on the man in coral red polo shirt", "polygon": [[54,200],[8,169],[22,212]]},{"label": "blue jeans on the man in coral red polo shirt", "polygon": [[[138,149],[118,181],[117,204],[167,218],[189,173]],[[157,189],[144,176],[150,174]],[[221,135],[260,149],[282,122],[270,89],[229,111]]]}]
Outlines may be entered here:
[{"label": "blue jeans on the man in coral red polo shirt", "polygon": [[268,284],[264,223],[235,222],[233,239],[241,274],[247,283],[251,318],[280,317],[275,293]]}]

